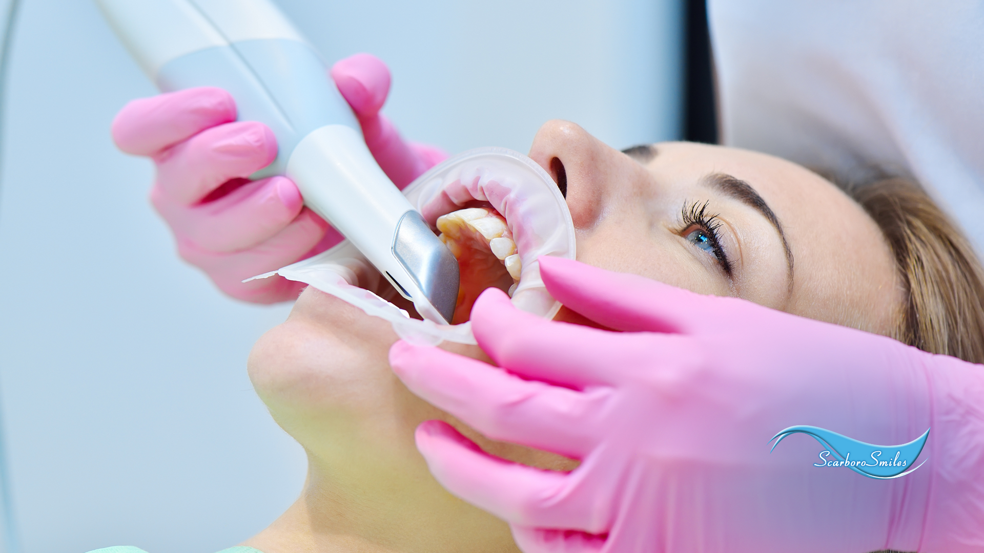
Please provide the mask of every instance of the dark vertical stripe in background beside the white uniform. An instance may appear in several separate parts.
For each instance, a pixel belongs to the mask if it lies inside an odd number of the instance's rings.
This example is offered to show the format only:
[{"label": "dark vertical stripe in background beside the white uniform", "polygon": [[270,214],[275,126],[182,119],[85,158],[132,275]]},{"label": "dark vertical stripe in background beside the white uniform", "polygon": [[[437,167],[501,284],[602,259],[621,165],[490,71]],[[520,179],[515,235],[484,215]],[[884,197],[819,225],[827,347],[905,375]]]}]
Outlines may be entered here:
[{"label": "dark vertical stripe in background beside the white uniform", "polygon": [[684,1],[687,14],[684,140],[717,144],[717,104],[711,75],[707,3],[706,0]]}]

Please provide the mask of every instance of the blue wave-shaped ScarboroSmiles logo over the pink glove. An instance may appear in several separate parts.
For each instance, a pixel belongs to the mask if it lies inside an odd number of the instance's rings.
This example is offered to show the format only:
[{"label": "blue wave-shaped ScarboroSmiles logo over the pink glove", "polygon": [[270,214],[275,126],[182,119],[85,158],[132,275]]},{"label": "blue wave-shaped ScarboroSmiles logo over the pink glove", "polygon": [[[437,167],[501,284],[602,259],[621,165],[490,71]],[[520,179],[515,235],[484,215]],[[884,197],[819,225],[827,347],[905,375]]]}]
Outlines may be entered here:
[{"label": "blue wave-shaped ScarboroSmiles logo over the pink glove", "polygon": [[[790,426],[775,436],[772,440],[772,449],[779,445],[786,436],[792,434],[806,434],[824,446],[825,450],[820,452],[820,462],[813,463],[814,466],[844,466],[863,474],[869,478],[888,480],[898,478],[912,472],[922,466],[923,460],[919,464],[912,466],[919,454],[922,453],[923,446],[926,445],[926,438],[929,438],[929,429],[922,436],[912,440],[908,444],[900,446],[876,446],[859,442],[848,438],[842,434],[831,432],[825,428],[817,426]],[[769,440],[771,442],[772,440]]]}]

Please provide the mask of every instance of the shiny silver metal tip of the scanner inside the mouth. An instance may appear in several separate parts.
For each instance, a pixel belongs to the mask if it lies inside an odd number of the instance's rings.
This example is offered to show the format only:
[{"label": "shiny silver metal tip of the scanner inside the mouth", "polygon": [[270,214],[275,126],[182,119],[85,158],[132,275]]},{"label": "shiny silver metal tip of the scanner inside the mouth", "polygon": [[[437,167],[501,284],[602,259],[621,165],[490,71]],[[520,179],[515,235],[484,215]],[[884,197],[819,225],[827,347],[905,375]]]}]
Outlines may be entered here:
[{"label": "shiny silver metal tip of the scanner inside the mouth", "polygon": [[[400,217],[393,240],[393,255],[430,305],[444,318],[437,322],[450,325],[461,285],[458,260],[417,212],[409,211]],[[426,313],[421,315],[427,317]]]}]

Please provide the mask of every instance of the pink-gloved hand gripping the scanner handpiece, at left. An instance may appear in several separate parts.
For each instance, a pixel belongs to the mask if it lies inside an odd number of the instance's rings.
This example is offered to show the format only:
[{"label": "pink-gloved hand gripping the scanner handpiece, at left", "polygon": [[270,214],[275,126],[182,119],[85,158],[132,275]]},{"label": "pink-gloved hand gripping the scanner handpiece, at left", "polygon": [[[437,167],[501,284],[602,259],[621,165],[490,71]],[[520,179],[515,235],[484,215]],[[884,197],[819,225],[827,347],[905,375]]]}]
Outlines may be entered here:
[{"label": "pink-gloved hand gripping the scanner handpiece, at left", "polygon": [[[404,142],[379,113],[390,91],[390,71],[378,58],[356,54],[335,64],[331,74],[362,125],[369,151],[397,186],[447,157],[437,148]],[[174,232],[178,253],[233,297],[257,303],[295,299],[305,284],[281,276],[242,279],[341,240],[303,207],[289,179],[246,179],[274,160],[277,140],[263,123],[236,121],[228,92],[189,89],[131,101],[116,115],[112,135],[123,152],[154,159],[151,201]]]}]

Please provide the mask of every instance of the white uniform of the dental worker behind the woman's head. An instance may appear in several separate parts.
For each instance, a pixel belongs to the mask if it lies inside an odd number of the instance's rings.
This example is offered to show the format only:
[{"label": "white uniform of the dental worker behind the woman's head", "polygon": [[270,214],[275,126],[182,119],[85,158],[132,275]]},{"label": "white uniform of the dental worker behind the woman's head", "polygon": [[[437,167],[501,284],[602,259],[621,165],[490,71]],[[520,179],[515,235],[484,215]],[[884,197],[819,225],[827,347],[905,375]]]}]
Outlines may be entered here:
[{"label": "white uniform of the dental worker behind the woman's head", "polygon": [[984,254],[984,2],[708,0],[721,142],[914,177]]}]

